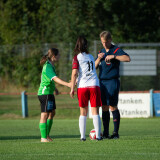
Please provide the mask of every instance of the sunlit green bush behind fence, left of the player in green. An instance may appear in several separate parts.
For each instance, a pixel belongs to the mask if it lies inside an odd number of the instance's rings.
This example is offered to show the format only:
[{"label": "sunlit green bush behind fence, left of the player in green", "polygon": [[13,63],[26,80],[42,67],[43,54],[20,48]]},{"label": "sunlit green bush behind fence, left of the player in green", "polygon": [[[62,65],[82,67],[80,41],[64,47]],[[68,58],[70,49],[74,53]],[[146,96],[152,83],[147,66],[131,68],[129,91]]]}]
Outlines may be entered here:
[{"label": "sunlit green bush behind fence, left of the player in green", "polygon": [[2,53],[0,76],[10,81],[13,85],[36,88],[40,83],[41,58],[39,50],[32,50],[30,55],[23,57],[11,46]]}]

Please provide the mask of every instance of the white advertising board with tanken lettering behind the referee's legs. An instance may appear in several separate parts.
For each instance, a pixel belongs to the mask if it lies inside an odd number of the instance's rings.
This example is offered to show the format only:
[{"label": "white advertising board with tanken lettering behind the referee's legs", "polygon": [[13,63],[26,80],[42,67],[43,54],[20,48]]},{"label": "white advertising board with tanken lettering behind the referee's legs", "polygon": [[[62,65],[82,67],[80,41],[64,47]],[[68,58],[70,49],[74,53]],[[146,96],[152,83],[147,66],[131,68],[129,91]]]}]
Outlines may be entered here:
[{"label": "white advertising board with tanken lettering behind the referee's legs", "polygon": [[[121,118],[150,117],[150,93],[120,93],[118,108]],[[99,114],[102,117],[102,107],[99,109]],[[110,115],[112,117],[112,113]],[[88,116],[92,118],[90,103]]]}]

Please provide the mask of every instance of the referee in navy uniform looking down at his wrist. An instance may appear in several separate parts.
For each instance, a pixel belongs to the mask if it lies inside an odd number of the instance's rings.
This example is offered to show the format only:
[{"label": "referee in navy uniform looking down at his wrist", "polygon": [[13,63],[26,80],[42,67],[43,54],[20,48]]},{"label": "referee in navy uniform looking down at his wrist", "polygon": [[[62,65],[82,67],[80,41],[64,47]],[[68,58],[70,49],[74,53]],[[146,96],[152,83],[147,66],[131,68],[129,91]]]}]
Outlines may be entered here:
[{"label": "referee in navy uniform looking down at his wrist", "polygon": [[[120,61],[130,62],[131,59],[118,46],[113,45],[111,33],[103,31],[100,33],[103,49],[98,53],[95,61],[96,68],[99,67],[99,80],[102,100],[102,121],[103,121],[103,138],[119,138],[120,113],[117,107],[118,95],[120,89],[119,66]],[[109,135],[110,112],[113,114],[114,131]]]}]

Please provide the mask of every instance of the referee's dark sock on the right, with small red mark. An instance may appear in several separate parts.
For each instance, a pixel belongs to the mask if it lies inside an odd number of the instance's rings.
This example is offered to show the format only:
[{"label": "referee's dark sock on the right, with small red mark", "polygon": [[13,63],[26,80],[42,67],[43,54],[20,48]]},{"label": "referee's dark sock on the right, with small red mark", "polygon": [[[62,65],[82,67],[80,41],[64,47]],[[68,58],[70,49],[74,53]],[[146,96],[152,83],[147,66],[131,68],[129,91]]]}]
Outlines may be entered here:
[{"label": "referee's dark sock on the right, with small red mark", "polygon": [[119,125],[120,125],[120,113],[119,110],[112,111],[113,114],[113,123],[114,123],[114,132],[118,134]]}]

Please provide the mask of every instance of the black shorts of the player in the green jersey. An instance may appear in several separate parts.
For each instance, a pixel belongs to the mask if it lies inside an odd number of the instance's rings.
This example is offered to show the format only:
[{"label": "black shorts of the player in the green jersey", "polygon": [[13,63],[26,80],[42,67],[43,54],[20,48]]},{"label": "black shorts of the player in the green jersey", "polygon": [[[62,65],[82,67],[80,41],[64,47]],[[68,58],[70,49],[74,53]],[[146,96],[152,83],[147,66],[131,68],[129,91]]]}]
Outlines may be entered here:
[{"label": "black shorts of the player in the green jersey", "polygon": [[52,112],[56,109],[54,95],[41,95],[38,96],[41,105],[41,112]]}]

